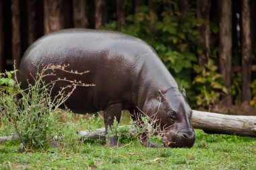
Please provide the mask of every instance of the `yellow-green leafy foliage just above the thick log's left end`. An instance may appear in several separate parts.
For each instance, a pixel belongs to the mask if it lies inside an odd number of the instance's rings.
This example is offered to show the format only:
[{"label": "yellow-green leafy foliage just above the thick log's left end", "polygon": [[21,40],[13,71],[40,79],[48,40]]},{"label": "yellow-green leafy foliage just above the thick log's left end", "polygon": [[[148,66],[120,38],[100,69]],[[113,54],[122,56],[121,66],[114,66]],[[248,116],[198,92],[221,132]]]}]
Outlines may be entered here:
[{"label": "yellow-green leafy foliage just above the thick log's left end", "polygon": [[195,89],[199,91],[196,96],[197,105],[207,107],[212,104],[217,104],[220,101],[221,95],[228,93],[220,75],[217,70],[218,67],[210,60],[205,67],[194,66],[197,76],[193,81]]}]

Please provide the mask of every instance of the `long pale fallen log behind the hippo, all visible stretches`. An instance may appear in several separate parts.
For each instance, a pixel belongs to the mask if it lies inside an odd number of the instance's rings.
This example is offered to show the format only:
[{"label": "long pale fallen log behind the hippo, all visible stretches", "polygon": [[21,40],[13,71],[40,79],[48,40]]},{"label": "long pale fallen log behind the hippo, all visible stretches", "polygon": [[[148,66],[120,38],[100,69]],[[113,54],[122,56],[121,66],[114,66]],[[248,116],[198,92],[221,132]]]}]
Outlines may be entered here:
[{"label": "long pale fallen log behind the hippo, all visible stretches", "polygon": [[[193,110],[191,124],[194,128],[199,128],[211,133],[256,137],[256,116],[232,116]],[[120,128],[122,128],[122,126],[120,126]],[[98,128],[94,132],[79,130],[78,133],[82,138],[99,139],[104,138],[105,128]],[[134,133],[135,130],[129,130],[129,134]],[[55,136],[56,140],[57,138],[58,137]],[[18,135],[10,134],[0,137],[0,143],[5,140],[18,140]]]}]

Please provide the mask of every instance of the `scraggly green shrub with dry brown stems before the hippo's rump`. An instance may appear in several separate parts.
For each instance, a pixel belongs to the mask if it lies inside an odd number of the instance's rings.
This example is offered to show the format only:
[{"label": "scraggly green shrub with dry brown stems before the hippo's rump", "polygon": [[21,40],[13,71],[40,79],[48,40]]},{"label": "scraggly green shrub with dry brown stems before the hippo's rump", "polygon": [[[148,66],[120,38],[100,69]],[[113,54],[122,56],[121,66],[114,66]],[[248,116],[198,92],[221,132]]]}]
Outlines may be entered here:
[{"label": "scraggly green shrub with dry brown stems before the hippo's rump", "polygon": [[[58,118],[55,112],[77,86],[89,85],[67,79],[57,79],[48,84],[43,81],[44,77],[54,75],[55,69],[66,71],[66,67],[68,66],[49,65],[44,67],[41,73],[37,73],[34,77],[34,85],[30,84],[28,89],[21,89],[15,77],[15,91],[8,89],[8,93],[2,93],[0,97],[1,107],[5,110],[7,120],[15,129],[15,133],[18,134],[25,151],[38,148],[45,150],[49,148],[53,139],[57,138],[56,136],[59,136],[59,145],[62,148],[66,148],[67,145],[77,146],[75,141],[78,141],[78,137],[75,128],[57,122]],[[84,74],[73,71],[71,73]],[[6,75],[9,77],[8,74]],[[55,97],[51,97],[51,89],[57,81],[67,81],[70,85],[62,87]],[[11,82],[14,83],[15,81]],[[7,88],[1,87],[1,91],[7,91]],[[21,96],[18,100],[16,99],[17,94]],[[65,138],[65,142],[61,138]]]}]

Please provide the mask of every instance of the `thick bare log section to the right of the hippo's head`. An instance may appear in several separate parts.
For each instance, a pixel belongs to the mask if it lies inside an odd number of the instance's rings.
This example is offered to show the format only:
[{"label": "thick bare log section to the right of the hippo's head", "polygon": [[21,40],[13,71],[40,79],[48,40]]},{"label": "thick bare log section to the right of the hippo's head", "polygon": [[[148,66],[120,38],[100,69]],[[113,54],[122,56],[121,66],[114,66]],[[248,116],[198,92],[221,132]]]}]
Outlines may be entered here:
[{"label": "thick bare log section to the right of the hippo's head", "polygon": [[256,116],[233,116],[193,110],[191,124],[205,132],[256,137]]}]

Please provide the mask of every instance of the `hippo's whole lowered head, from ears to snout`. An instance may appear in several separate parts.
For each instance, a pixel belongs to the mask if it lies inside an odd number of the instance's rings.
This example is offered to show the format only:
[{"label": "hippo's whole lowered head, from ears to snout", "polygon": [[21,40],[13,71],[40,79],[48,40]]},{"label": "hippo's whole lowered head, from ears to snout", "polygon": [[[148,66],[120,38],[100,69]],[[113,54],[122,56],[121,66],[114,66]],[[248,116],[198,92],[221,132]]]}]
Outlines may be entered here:
[{"label": "hippo's whole lowered head, from ears to snout", "polygon": [[157,124],[163,132],[161,136],[164,146],[193,146],[195,131],[190,122],[192,110],[187,103],[185,89],[159,90],[152,109],[156,113]]}]

